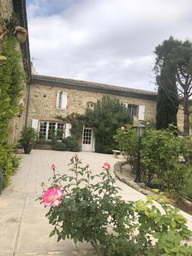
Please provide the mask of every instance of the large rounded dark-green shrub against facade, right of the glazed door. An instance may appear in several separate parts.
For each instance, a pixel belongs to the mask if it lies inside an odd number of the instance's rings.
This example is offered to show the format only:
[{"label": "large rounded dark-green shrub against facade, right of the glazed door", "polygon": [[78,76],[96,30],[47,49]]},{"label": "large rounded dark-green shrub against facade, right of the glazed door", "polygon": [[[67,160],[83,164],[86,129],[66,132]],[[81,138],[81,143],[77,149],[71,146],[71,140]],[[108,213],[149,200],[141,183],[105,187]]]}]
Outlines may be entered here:
[{"label": "large rounded dark-green shrub against facade, right of the glazed door", "polygon": [[102,100],[97,100],[94,110],[88,109],[87,115],[95,133],[95,151],[98,153],[106,153],[109,148],[117,149],[117,143],[113,139],[117,129],[133,123],[133,118],[126,106],[119,99],[109,96],[103,96]]}]

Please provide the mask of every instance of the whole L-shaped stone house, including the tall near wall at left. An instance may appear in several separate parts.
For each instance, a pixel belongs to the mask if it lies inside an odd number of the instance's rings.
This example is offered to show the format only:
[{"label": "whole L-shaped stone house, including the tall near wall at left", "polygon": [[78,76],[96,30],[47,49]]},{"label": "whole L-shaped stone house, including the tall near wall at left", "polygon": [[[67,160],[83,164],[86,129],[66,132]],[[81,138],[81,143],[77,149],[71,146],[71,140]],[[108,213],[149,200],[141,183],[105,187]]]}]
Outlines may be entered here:
[{"label": "whole L-shaped stone house, including the tall near wall at left", "polygon": [[[1,0],[0,17],[9,18],[15,11],[20,25],[28,30],[26,0]],[[79,81],[31,74],[29,37],[24,44],[18,44],[18,51],[23,52],[21,65],[28,74],[29,82],[20,103],[25,106],[24,113],[18,113],[10,123],[9,141],[17,142],[23,125],[34,127],[49,140],[50,130],[62,130],[63,137],[70,135],[71,124],[57,119],[57,115],[66,117],[77,112],[83,114],[87,106],[94,107],[97,99],[103,95],[119,98],[134,117],[134,124],[139,120],[156,118],[157,93],[126,87],[112,86],[96,82]],[[183,111],[178,112],[178,127],[183,130]],[[60,138],[61,139],[61,138]],[[82,150],[94,150],[94,134],[91,127],[82,131]]]}]

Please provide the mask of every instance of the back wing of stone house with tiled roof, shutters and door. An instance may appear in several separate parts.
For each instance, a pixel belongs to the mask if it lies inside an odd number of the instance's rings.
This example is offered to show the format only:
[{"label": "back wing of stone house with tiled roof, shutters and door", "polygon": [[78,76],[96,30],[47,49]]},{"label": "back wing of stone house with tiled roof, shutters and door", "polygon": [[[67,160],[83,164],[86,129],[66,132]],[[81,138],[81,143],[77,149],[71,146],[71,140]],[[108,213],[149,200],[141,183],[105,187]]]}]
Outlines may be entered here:
[{"label": "back wing of stone house with tiled roof, shutters and door", "polygon": [[[139,120],[155,120],[156,92],[32,75],[26,123],[34,127],[39,134],[44,134],[48,140],[50,130],[63,130],[63,137],[68,137],[71,124],[61,122],[56,116],[66,117],[73,112],[84,114],[87,106],[93,108],[97,99],[101,99],[106,94],[119,98],[127,106],[134,118],[134,124],[138,124]],[[180,129],[182,129],[182,121],[182,111],[179,111]],[[94,134],[91,127],[83,128],[82,150],[94,150]]]}]

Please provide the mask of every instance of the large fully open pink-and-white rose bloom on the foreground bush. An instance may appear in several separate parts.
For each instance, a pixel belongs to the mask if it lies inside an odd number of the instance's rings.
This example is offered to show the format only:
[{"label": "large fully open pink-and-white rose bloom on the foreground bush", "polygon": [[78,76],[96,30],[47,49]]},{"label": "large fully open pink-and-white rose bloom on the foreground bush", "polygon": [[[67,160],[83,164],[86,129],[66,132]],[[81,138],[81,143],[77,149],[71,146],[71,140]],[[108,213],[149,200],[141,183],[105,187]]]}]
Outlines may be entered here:
[{"label": "large fully open pink-and-white rose bloom on the foreground bush", "polygon": [[43,203],[46,206],[58,206],[62,198],[62,190],[60,188],[49,188],[42,196]]}]

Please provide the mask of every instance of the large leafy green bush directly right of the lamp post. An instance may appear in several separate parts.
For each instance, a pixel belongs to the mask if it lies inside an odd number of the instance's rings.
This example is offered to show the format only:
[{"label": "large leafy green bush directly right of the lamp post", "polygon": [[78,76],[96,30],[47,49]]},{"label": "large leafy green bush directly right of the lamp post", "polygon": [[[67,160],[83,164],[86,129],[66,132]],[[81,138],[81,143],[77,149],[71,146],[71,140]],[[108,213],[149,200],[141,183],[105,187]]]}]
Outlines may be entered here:
[{"label": "large leafy green bush directly right of the lamp post", "polygon": [[[144,172],[158,178],[159,187],[182,203],[191,176],[192,141],[179,138],[173,126],[166,130],[147,130],[142,139],[141,164]],[[144,180],[146,182],[146,178]]]}]

